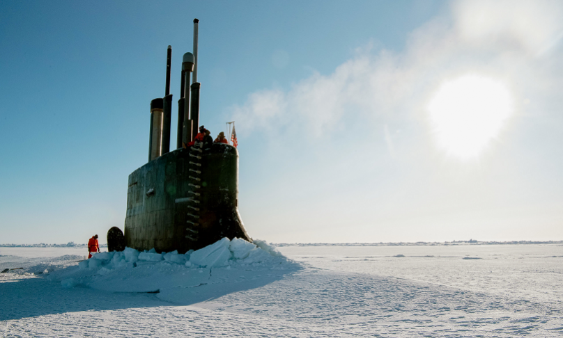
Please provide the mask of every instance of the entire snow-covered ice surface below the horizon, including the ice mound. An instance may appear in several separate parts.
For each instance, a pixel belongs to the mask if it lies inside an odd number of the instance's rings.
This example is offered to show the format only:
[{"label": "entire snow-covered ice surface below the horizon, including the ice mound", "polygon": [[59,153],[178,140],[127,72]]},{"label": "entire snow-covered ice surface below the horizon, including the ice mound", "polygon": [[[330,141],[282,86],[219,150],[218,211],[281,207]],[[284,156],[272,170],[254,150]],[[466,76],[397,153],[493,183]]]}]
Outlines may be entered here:
[{"label": "entire snow-covered ice surface below the horizon, including the ice mound", "polygon": [[0,249],[2,337],[563,337],[560,244],[41,249]]}]

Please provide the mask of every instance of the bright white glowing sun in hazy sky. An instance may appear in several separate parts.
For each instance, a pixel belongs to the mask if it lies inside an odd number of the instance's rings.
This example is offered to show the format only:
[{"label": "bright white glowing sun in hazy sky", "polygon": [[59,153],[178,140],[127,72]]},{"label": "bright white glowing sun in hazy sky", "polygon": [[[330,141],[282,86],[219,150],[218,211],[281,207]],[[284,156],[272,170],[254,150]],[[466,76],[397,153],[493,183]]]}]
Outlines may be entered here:
[{"label": "bright white glowing sun in hazy sky", "polygon": [[443,83],[428,111],[435,141],[459,159],[479,156],[511,115],[511,95],[502,83],[465,75]]}]

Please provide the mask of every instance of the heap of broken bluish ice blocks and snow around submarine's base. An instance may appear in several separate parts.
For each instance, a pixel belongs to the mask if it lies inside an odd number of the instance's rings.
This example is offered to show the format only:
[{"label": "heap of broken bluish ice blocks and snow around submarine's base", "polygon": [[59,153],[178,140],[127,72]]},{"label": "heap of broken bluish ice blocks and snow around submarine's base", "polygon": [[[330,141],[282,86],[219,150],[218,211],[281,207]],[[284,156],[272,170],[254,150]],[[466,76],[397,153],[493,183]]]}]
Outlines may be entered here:
[{"label": "heap of broken bluish ice blocks and snow around submarine's base", "polygon": [[[49,273],[47,279],[61,282],[65,288],[79,285],[116,292],[149,292],[175,287],[196,287],[200,284],[245,282],[260,271],[295,271],[300,264],[286,259],[265,241],[249,243],[228,238],[185,255],[177,251],[139,252],[125,248],[123,252],[99,252],[91,259]],[[220,280],[210,278],[211,270],[223,271]],[[254,274],[254,275],[253,275]]]}]

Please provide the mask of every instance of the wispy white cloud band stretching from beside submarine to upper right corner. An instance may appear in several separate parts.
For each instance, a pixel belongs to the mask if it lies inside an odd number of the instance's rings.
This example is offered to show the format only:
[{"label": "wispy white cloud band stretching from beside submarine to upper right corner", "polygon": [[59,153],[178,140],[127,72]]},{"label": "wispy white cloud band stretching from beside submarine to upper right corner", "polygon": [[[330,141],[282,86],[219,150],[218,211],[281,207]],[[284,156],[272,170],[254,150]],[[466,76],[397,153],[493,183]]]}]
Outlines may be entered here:
[{"label": "wispy white cloud band stretching from beside submarine to upper right corner", "polygon": [[401,53],[358,49],[332,74],[315,72],[290,90],[250,94],[231,108],[233,119],[244,134],[302,126],[320,138],[355,117],[424,120],[431,93],[466,73],[500,79],[521,95],[530,81],[553,85],[555,77],[542,78],[550,76],[541,74],[546,60],[538,56],[560,42],[562,7],[558,1],[458,1],[449,17],[413,31]]}]

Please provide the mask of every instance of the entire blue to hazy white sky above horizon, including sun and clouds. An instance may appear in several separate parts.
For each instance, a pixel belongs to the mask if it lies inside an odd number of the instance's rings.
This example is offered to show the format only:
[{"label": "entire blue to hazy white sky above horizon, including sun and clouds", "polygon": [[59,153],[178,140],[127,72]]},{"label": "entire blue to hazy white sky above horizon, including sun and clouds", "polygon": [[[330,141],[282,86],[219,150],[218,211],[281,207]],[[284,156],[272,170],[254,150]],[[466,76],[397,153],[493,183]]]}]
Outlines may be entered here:
[{"label": "entire blue to hazy white sky above horizon, including sun and clouds", "polygon": [[0,243],[123,230],[194,18],[201,124],[236,121],[254,239],[563,240],[561,1],[8,0]]}]

